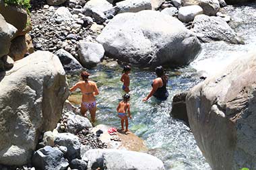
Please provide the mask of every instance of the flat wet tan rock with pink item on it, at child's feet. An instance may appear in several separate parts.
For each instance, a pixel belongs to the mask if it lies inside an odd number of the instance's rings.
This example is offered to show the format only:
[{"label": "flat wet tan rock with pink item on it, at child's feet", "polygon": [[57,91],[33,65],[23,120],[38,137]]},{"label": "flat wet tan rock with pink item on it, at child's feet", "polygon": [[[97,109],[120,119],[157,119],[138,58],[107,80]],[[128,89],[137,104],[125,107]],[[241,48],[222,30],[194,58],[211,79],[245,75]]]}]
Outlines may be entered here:
[{"label": "flat wet tan rock with pink item on it, at child's feet", "polygon": [[102,130],[102,134],[100,134],[100,140],[107,145],[107,148],[117,148],[129,151],[147,151],[148,148],[146,147],[144,141],[129,132],[127,134],[123,134],[122,132],[117,132],[117,136],[121,139],[121,141],[111,140],[113,136],[108,134],[108,129],[111,128],[110,126],[106,126],[104,124],[99,124],[92,128],[91,132],[96,134],[98,130]]}]

